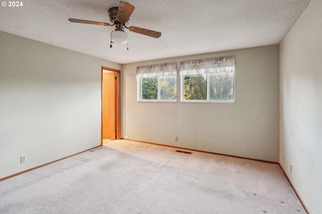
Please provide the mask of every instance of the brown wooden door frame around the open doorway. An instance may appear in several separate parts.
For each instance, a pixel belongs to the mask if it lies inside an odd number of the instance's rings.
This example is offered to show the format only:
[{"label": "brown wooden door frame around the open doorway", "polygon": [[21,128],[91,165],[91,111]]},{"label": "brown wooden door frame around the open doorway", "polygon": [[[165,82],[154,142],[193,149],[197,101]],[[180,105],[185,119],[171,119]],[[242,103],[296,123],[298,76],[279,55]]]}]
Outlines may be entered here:
[{"label": "brown wooden door frame around the open doorway", "polygon": [[116,140],[121,139],[121,71],[102,66],[101,74],[101,145],[103,146],[103,70],[115,72],[115,136]]}]

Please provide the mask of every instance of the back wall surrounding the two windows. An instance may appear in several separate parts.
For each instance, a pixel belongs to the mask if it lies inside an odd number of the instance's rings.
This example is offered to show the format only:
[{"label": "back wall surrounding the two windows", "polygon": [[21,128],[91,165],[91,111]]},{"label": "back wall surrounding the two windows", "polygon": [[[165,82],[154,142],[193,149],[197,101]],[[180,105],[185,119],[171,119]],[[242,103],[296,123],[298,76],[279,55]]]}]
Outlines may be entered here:
[{"label": "back wall surrounding the two windows", "polygon": [[[234,104],[137,102],[136,66],[227,55],[236,56]],[[177,82],[180,85],[179,76]],[[179,87],[177,92],[180,97]],[[278,162],[279,46],[122,65],[124,136]]]}]

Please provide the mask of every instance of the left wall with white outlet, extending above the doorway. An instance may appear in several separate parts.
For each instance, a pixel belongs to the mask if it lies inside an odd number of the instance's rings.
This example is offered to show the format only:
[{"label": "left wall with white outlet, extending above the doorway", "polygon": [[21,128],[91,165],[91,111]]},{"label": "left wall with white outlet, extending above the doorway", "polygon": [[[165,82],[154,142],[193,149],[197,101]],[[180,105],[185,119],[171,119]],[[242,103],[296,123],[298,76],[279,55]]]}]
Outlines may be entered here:
[{"label": "left wall with white outlet, extending above the doorway", "polygon": [[0,178],[101,144],[101,66],[121,68],[0,32]]}]

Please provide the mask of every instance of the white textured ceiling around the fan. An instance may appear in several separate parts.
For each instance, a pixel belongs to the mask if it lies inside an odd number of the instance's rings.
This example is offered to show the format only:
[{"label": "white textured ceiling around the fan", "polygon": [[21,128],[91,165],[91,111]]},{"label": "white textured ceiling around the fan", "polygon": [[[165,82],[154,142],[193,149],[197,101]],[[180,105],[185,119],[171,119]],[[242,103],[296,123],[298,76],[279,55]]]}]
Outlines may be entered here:
[{"label": "white textured ceiling around the fan", "polygon": [[[0,31],[125,64],[278,44],[310,0],[124,0],[135,7],[129,26],[162,32],[158,39],[127,31],[126,44],[110,48],[112,0],[29,0],[0,7]],[[0,47],[1,48],[1,47]]]}]

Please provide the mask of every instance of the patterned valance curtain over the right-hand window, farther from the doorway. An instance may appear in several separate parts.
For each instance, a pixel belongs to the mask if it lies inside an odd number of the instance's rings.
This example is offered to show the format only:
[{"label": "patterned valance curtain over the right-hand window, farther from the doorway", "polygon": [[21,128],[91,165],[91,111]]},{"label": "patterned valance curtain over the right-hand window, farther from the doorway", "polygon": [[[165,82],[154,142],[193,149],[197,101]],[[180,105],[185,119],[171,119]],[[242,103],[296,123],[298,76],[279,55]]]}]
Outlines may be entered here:
[{"label": "patterned valance curtain over the right-hand window, farther from the doorway", "polygon": [[180,62],[180,75],[230,72],[235,72],[235,56],[223,56]]}]

